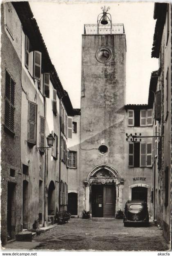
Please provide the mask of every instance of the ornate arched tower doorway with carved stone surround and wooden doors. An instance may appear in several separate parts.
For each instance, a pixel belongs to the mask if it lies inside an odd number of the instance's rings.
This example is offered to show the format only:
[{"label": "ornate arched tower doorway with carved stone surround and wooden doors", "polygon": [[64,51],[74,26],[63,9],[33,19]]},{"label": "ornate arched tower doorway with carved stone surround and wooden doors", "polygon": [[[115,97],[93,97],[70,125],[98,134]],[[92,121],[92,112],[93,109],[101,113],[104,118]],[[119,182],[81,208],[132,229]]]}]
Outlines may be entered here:
[{"label": "ornate arched tower doorway with carved stone surround and wooden doors", "polygon": [[115,217],[115,212],[122,209],[124,180],[113,167],[96,166],[84,183],[86,211],[90,211],[92,217]]}]

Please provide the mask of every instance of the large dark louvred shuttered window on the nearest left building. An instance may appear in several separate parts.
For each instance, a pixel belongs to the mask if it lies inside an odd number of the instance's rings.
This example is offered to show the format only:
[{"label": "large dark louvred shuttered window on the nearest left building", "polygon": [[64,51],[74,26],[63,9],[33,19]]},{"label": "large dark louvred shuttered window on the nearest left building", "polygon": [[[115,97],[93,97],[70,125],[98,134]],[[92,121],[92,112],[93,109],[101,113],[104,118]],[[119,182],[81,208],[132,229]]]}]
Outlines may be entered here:
[{"label": "large dark louvred shuttered window on the nearest left building", "polygon": [[5,127],[14,133],[15,82],[5,71]]}]

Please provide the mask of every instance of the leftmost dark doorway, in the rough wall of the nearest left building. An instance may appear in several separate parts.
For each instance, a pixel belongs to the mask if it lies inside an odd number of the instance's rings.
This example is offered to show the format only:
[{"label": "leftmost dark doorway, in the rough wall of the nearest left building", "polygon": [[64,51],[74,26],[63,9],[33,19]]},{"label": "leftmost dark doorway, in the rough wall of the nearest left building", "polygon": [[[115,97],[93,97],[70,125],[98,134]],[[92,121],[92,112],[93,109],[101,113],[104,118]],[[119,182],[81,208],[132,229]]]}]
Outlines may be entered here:
[{"label": "leftmost dark doorway, in the rough wall of the nearest left building", "polygon": [[8,197],[7,197],[7,239],[15,238],[15,184],[8,182]]}]

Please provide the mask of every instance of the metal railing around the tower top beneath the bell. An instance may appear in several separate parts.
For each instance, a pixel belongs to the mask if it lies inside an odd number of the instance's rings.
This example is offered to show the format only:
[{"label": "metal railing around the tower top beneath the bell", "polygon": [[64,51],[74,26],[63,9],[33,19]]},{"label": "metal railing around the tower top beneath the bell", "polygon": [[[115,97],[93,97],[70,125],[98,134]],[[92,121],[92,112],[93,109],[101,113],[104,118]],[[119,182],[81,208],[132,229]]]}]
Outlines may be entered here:
[{"label": "metal railing around the tower top beneath the bell", "polygon": [[84,34],[86,35],[106,35],[106,34],[124,34],[124,24],[84,24]]}]

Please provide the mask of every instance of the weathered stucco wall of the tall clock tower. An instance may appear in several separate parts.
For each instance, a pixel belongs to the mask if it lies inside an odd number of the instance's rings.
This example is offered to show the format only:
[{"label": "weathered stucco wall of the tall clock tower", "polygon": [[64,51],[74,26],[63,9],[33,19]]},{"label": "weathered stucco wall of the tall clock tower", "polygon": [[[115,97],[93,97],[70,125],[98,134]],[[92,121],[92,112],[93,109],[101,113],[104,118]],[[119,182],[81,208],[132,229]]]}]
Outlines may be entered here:
[{"label": "weathered stucco wall of the tall clock tower", "polygon": [[[102,47],[112,51],[110,62],[101,63],[95,53]],[[82,36],[81,144],[79,214],[85,209],[84,181],[100,164],[124,176],[125,35]],[[98,150],[104,140],[106,154]]]}]

